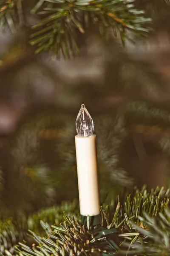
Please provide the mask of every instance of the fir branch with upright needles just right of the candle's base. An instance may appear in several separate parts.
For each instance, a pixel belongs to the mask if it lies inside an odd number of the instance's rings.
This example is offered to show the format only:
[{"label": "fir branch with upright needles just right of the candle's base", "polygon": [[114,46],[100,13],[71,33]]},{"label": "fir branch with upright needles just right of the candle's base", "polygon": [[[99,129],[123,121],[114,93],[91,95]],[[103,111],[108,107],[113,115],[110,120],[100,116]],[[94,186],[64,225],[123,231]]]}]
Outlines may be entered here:
[{"label": "fir branch with upright needles just right of the candle's base", "polygon": [[107,224],[109,223],[108,228],[121,227],[121,230],[126,229],[124,223],[127,224],[127,220],[133,221],[140,226],[142,221],[138,216],[144,217],[145,213],[150,216],[157,216],[159,212],[164,213],[164,208],[169,203],[169,193],[170,190],[166,191],[163,187],[161,189],[159,187],[155,190],[152,189],[149,193],[146,187],[143,186],[141,191],[136,189],[134,195],[128,195],[125,201],[119,201],[118,199],[117,205],[113,201],[109,207],[105,206],[103,219]]}]

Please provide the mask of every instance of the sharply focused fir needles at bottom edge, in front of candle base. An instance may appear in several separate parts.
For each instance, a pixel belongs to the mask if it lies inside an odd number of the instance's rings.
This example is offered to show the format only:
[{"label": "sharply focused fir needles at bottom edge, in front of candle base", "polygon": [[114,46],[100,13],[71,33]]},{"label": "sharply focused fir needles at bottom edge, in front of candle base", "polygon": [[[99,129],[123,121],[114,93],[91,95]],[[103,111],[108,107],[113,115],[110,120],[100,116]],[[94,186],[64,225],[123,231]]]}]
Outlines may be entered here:
[{"label": "sharply focused fir needles at bottom edge, in front of candle base", "polygon": [[43,254],[47,255],[87,255],[93,252],[95,247],[90,243],[93,239],[91,233],[85,226],[82,226],[74,218],[68,218],[64,214],[64,220],[59,227],[49,226],[47,223],[42,222],[42,227],[48,234],[48,238],[41,238],[34,232],[31,235],[35,241],[39,244],[32,249],[25,244],[20,243],[20,247],[17,247],[18,251],[23,255],[35,255]]}]

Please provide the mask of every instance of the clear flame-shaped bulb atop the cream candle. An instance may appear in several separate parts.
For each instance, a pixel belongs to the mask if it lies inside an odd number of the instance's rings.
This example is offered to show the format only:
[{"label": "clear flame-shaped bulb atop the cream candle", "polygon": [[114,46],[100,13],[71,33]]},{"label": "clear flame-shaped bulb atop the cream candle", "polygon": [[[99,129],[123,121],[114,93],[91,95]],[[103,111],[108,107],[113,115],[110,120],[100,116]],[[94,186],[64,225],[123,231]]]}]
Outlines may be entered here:
[{"label": "clear flame-shaped bulb atop the cream candle", "polygon": [[90,137],[93,135],[94,124],[91,115],[85,105],[82,104],[76,119],[76,131],[80,137]]}]

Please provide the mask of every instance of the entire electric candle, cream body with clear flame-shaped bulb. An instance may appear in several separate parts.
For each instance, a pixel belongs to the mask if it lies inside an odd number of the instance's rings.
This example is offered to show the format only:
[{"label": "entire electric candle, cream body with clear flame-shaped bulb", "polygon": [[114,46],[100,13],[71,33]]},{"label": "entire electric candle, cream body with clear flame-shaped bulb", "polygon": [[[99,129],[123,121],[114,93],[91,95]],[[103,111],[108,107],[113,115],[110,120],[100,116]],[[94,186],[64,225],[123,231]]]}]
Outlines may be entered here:
[{"label": "entire electric candle, cream body with clear flame-shaped bulb", "polygon": [[[99,216],[99,185],[97,172],[96,135],[94,124],[82,104],[76,119],[76,158],[79,186],[79,206],[82,216]],[[94,219],[94,218],[93,218]],[[99,218],[96,218],[96,220]],[[96,221],[94,221],[96,223]]]}]

